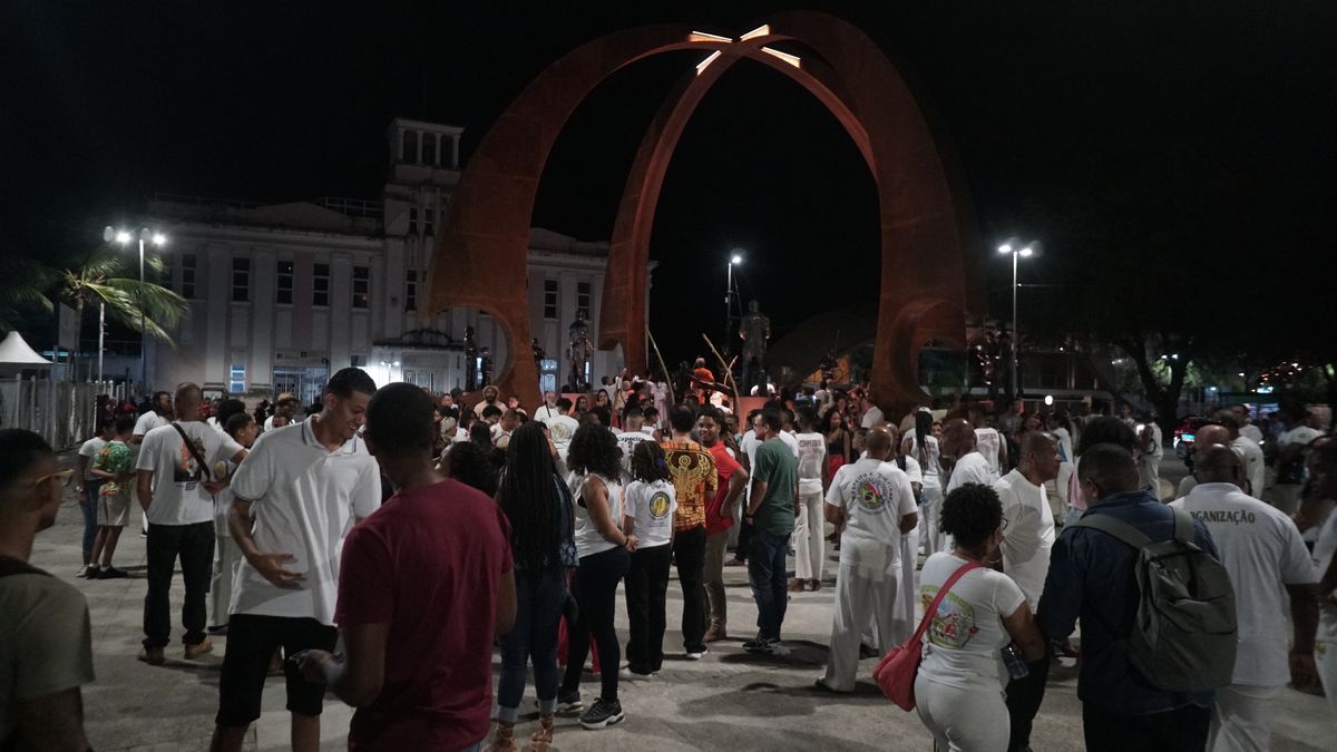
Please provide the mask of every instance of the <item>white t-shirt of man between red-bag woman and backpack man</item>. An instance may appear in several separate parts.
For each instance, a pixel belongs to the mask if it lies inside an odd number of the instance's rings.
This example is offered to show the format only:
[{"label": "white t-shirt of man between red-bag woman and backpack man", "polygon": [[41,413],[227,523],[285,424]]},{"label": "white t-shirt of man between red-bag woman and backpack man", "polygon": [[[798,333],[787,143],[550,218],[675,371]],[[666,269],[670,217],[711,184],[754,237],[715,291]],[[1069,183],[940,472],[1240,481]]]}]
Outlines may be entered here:
[{"label": "white t-shirt of man between red-bag woman and backpack man", "polygon": [[1013,470],[993,484],[1003,502],[1003,571],[1021,593],[1031,612],[1040,603],[1044,577],[1050,574],[1050,549],[1054,547],[1054,510],[1044,486],[1036,486]]}]

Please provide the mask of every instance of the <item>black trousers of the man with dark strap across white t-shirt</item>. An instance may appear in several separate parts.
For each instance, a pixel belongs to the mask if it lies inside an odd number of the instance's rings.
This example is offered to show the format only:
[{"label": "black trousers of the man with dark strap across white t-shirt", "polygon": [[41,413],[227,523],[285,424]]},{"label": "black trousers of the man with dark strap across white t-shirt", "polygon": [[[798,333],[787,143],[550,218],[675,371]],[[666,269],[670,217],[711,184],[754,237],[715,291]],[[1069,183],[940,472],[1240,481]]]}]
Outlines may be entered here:
[{"label": "black trousers of the man with dark strap across white t-shirt", "polygon": [[148,594],[144,595],[144,648],[163,648],[171,641],[171,575],[180,557],[186,602],[180,624],[182,642],[205,641],[205,598],[214,570],[214,522],[195,525],[148,525]]}]

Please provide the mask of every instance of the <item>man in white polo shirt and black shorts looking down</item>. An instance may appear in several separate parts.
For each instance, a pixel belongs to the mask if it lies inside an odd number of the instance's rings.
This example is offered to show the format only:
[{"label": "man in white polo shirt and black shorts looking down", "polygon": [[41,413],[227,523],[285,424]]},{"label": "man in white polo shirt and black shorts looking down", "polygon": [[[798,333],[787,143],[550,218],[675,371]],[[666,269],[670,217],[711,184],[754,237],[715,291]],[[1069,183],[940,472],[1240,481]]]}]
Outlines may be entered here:
[{"label": "man in white polo shirt and black shorts looking down", "polygon": [[[373,392],[364,371],[340,371],[318,415],[263,434],[233,476],[230,526],[246,561],[233,589],[215,752],[242,748],[277,648],[289,657],[334,650],[344,537],[381,503],[380,468],[357,436]],[[318,749],[325,688],[291,664],[283,670],[293,749]]]}]

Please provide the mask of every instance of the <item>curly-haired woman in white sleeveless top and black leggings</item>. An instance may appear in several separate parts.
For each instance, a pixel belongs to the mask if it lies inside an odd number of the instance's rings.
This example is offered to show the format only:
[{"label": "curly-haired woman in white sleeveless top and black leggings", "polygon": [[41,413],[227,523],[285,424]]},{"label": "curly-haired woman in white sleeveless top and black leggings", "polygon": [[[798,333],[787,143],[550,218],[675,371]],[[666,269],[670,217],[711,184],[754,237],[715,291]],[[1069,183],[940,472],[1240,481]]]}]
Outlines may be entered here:
[{"label": "curly-haired woman in white sleeveless top and black leggings", "polygon": [[599,650],[602,690],[599,698],[580,715],[580,725],[600,729],[623,720],[618,701],[618,665],[622,649],[612,626],[618,582],[627,574],[636,537],[623,534],[622,450],[608,428],[586,423],[571,436],[567,450],[571,467],[571,496],[576,499],[575,541],[580,559],[572,581],[579,605],[578,618],[568,632],[567,672],[558,693],[558,711],[583,708],[580,672],[590,653],[590,636]]}]

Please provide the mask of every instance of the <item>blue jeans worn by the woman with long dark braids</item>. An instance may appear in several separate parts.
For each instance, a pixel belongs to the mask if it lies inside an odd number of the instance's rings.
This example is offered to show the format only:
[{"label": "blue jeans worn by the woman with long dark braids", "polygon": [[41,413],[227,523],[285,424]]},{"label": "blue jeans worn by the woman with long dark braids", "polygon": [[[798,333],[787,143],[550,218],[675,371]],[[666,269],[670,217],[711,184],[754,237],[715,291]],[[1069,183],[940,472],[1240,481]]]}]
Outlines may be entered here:
[{"label": "blue jeans worn by the woman with long dark braids", "polygon": [[562,567],[543,573],[515,571],[515,626],[501,637],[501,680],[497,682],[497,720],[515,723],[524,698],[525,664],[533,661],[533,688],[539,712],[558,707],[558,622],[567,602]]}]

